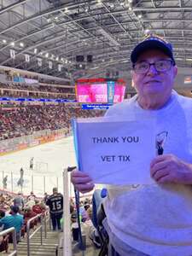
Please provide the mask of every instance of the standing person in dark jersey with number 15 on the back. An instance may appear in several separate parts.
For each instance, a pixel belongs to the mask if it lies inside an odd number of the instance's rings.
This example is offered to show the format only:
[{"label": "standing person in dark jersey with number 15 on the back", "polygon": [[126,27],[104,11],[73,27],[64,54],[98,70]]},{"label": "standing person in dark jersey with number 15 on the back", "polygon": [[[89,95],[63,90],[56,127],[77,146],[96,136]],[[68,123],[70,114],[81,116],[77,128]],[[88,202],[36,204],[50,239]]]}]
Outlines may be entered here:
[{"label": "standing person in dark jersey with number 15 on the back", "polygon": [[57,188],[53,188],[53,194],[49,196],[46,205],[49,206],[53,230],[56,230],[56,227],[61,230],[60,220],[63,213],[63,196],[58,193]]}]

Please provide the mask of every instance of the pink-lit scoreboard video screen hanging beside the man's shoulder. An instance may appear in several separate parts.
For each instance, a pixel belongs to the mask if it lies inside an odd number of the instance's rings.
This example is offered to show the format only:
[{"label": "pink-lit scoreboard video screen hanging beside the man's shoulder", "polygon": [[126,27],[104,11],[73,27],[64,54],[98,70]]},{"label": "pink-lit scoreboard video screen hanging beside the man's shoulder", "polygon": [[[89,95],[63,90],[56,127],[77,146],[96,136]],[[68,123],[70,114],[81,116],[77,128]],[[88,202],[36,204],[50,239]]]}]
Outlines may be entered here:
[{"label": "pink-lit scoreboard video screen hanging beside the man's shoulder", "polygon": [[125,85],[117,82],[76,84],[77,101],[81,103],[118,103],[124,96]]}]

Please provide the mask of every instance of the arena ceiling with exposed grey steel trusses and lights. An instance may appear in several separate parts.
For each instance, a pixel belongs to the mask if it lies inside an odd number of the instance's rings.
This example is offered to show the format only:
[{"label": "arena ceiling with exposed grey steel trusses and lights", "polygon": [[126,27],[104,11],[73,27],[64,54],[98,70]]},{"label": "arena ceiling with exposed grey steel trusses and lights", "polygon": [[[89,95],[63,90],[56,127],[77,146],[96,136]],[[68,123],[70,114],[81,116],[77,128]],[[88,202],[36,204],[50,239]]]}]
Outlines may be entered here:
[{"label": "arena ceiling with exposed grey steel trusses and lights", "polygon": [[[131,69],[131,49],[148,31],[172,41],[179,67],[192,65],[192,0],[1,0],[0,5],[1,66],[74,79],[118,75]],[[77,55],[84,55],[84,62],[77,62]]]}]

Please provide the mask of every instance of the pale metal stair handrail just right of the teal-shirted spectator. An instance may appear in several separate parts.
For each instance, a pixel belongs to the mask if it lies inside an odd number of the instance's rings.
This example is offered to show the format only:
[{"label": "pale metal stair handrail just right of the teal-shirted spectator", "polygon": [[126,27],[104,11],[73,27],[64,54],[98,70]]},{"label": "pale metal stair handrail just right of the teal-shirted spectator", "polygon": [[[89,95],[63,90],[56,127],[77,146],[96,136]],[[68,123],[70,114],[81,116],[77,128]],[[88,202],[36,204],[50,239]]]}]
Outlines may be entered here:
[{"label": "pale metal stair handrail just right of the teal-shirted spectator", "polygon": [[[32,234],[30,235],[30,224],[33,220],[40,218],[40,225],[38,226],[37,230],[34,230],[34,232],[32,232]],[[34,236],[38,230],[41,230],[41,245],[43,244],[43,214],[39,213],[38,215],[36,215],[33,218],[30,218],[27,223],[26,223],[26,239],[27,239],[27,256],[30,256],[30,240],[32,239],[32,236]]]}]

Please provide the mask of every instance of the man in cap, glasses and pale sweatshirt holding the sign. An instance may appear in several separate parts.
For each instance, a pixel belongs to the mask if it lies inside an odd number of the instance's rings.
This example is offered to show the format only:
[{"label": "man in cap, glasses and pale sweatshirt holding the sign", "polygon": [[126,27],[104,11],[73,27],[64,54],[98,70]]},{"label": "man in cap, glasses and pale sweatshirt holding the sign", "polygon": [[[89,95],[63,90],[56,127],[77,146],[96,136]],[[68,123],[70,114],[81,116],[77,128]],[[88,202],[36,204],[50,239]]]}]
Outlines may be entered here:
[{"label": "man in cap, glasses and pale sweatshirt holding the sign", "polygon": [[[149,36],[131,52],[137,96],[109,108],[107,116],[156,120],[165,131],[150,164],[151,185],[108,187],[104,201],[109,255],[192,255],[192,100],[172,90],[177,75],[172,45]],[[155,147],[155,145],[154,145]],[[159,149],[159,150],[158,150]],[[147,150],[147,148],[146,148]],[[139,156],[138,156],[139,157]],[[142,170],[141,170],[142,172]],[[82,193],[94,188],[89,175],[75,170],[72,182]],[[114,250],[115,248],[115,250]]]}]

